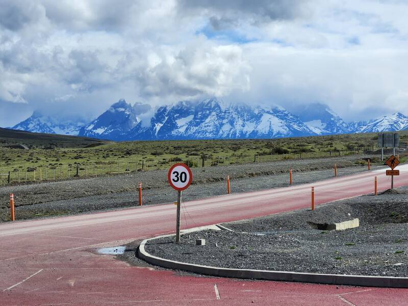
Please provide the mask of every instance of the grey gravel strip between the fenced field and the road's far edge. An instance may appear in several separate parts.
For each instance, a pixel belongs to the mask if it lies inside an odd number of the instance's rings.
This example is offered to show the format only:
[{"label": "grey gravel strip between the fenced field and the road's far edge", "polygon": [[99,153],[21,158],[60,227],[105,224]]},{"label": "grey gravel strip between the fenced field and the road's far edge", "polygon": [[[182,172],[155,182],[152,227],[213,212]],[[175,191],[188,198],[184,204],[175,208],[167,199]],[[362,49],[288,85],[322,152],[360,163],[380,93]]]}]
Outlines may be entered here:
[{"label": "grey gravel strip between the fenced field and the road's far edge", "polygon": [[[193,168],[193,185],[184,193],[185,200],[205,198],[225,193],[225,176],[231,177],[231,191],[262,190],[288,185],[289,167],[293,168],[294,184],[310,183],[338,174],[365,171],[367,166],[356,164],[375,156],[345,156],[339,158],[279,161],[261,164]],[[374,166],[373,169],[379,166]],[[9,193],[15,194],[16,219],[32,219],[133,207],[137,205],[137,185],[143,183],[144,205],[176,200],[168,186],[167,170],[133,172],[124,175],[99,176],[61,182],[14,185],[0,188],[0,221],[9,220]],[[205,185],[205,188],[203,188]]]}]

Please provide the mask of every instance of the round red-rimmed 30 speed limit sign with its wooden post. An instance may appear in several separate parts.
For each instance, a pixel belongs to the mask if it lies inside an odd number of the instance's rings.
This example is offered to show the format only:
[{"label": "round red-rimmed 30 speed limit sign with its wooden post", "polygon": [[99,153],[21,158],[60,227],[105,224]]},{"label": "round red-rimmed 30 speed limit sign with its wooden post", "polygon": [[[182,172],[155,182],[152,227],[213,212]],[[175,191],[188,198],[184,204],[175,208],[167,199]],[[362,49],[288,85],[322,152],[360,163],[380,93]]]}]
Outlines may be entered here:
[{"label": "round red-rimmed 30 speed limit sign with its wooden post", "polygon": [[175,242],[180,242],[180,210],[182,206],[182,191],[193,181],[193,173],[185,164],[174,164],[169,169],[167,179],[170,186],[177,190],[177,216],[175,225]]}]

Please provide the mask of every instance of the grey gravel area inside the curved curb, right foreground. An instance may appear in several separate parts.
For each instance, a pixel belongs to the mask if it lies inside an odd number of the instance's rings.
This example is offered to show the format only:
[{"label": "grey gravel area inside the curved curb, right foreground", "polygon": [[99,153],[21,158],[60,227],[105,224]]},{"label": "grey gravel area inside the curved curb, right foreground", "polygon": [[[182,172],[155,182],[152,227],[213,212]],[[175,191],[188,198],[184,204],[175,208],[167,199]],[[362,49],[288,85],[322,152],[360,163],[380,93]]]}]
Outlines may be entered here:
[{"label": "grey gravel area inside the curved curb, right foreground", "polygon": [[[152,255],[238,269],[408,276],[408,187],[375,196],[360,196],[301,210],[223,224],[240,232],[203,231],[155,240]],[[350,215],[348,215],[350,214]],[[360,218],[360,227],[345,231],[307,231],[253,236],[255,231],[308,229],[307,221],[336,222]],[[241,233],[246,232],[246,233]],[[206,239],[206,246],[195,245]]]}]

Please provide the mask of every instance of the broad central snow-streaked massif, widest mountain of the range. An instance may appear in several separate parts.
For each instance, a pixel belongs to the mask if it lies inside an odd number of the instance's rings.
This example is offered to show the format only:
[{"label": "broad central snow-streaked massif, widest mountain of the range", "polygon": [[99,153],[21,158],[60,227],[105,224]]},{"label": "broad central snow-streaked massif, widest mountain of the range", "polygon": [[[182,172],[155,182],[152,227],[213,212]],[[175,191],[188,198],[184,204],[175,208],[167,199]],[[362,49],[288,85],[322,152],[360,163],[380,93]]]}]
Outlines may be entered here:
[{"label": "broad central snow-streaked massif, widest mountain of the range", "polygon": [[283,108],[227,105],[217,98],[160,107],[150,126],[136,126],[130,139],[278,138],[314,135]]}]

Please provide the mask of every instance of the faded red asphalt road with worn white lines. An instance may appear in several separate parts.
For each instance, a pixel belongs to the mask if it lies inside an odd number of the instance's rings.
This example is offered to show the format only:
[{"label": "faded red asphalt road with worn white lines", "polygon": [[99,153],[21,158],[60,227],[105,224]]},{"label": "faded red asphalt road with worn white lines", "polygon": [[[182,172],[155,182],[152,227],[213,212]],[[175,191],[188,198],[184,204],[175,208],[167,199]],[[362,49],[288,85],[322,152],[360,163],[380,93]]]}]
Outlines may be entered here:
[{"label": "faded red asphalt road with worn white lines", "polygon": [[[399,169],[395,187],[408,185],[408,165]],[[371,193],[375,175],[379,190],[390,187],[385,170],[315,183],[316,204]],[[306,208],[311,186],[185,202],[182,227]],[[0,305],[408,305],[408,289],[183,276],[95,253],[99,247],[172,233],[175,211],[169,204],[0,224]]]}]

